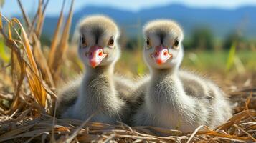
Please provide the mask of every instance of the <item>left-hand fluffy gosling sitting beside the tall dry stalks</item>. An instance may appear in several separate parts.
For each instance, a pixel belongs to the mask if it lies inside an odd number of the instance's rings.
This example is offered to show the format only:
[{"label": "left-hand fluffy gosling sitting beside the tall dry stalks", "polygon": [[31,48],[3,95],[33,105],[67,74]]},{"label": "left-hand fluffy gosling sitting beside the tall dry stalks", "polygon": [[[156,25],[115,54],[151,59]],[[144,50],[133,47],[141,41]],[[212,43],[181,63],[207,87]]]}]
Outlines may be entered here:
[{"label": "left-hand fluffy gosling sitting beside the tall dry stalks", "polygon": [[[132,87],[131,83],[125,87],[120,82],[115,85],[114,81],[121,80],[113,73],[120,56],[118,26],[108,17],[88,16],[80,23],[79,31],[78,54],[86,72],[82,81],[78,79],[60,92],[57,115],[85,120],[98,112],[90,121],[115,124],[117,120],[125,120],[124,111],[128,112],[125,94]],[[115,87],[120,89],[119,93]]]}]

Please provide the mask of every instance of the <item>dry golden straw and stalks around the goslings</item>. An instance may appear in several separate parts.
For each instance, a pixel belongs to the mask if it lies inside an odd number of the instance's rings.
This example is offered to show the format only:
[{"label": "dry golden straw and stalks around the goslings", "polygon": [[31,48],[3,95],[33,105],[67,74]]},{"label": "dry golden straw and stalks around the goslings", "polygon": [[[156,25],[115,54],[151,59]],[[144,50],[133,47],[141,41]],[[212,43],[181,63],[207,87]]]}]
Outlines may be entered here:
[{"label": "dry golden straw and stalks around the goslings", "polygon": [[65,23],[65,1],[62,3],[48,56],[43,54],[39,39],[49,0],[39,0],[32,22],[18,2],[27,29],[18,19],[9,20],[0,14],[1,36],[11,51],[11,70],[3,76],[12,77],[14,89],[0,91],[0,142],[256,142],[256,89],[252,88],[230,93],[233,102],[238,103],[236,114],[216,129],[200,126],[194,132],[182,133],[159,127],[54,118],[54,87],[60,80],[68,46],[74,1]]}]

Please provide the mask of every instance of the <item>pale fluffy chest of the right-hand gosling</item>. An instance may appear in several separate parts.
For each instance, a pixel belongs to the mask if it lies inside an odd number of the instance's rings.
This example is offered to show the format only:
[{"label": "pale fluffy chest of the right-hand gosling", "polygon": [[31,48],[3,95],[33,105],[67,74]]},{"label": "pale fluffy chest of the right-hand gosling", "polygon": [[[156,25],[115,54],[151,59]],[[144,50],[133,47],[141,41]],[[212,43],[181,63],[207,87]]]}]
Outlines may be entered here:
[{"label": "pale fluffy chest of the right-hand gosling", "polygon": [[194,124],[194,100],[187,97],[179,82],[158,82],[148,89],[146,109],[153,125],[189,132]]}]

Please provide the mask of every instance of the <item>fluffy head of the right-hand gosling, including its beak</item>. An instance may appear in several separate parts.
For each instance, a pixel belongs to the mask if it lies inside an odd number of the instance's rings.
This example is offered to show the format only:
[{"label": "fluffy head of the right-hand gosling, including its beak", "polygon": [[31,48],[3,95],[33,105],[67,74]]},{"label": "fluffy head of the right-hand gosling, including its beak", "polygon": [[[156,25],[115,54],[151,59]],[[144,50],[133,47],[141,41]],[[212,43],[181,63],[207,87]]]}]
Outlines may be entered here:
[{"label": "fluffy head of the right-hand gosling, including its beak", "polygon": [[150,69],[178,69],[183,59],[184,34],[174,21],[150,21],[143,28],[143,56]]}]

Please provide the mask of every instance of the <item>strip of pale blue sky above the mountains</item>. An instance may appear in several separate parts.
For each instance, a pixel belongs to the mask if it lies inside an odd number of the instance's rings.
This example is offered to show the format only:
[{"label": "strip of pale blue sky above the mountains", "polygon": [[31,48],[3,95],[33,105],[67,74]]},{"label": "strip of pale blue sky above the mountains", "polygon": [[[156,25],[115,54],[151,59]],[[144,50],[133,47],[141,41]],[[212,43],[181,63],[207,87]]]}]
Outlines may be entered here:
[{"label": "strip of pale blue sky above the mountains", "polygon": [[[70,2],[70,0],[67,0]],[[37,9],[37,0],[22,0],[27,12],[33,12]],[[60,13],[62,0],[50,0],[47,7],[47,15],[57,15]],[[236,9],[240,6],[256,6],[256,0],[75,0],[75,11],[86,5],[110,6],[117,9],[125,9],[128,11],[138,11],[153,6],[164,6],[166,4],[184,4],[190,7],[200,8],[221,8]],[[21,14],[16,0],[5,0],[1,13],[5,16]]]}]

